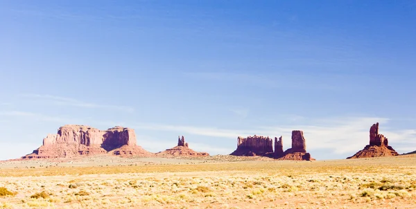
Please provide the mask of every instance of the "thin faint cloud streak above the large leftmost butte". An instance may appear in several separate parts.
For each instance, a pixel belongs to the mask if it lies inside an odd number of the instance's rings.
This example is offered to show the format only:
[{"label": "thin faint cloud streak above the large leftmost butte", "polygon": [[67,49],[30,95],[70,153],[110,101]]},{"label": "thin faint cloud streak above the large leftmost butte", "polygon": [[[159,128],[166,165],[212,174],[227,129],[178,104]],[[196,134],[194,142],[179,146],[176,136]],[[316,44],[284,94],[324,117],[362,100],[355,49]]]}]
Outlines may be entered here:
[{"label": "thin faint cloud streak above the large leftmost butte", "polygon": [[40,95],[40,94],[22,94],[24,98],[30,98],[36,101],[43,101],[52,104],[58,105],[68,105],[73,107],[84,107],[84,108],[92,108],[92,109],[113,109],[117,111],[127,111],[132,112],[135,111],[134,108],[128,106],[121,106],[121,105],[109,105],[109,104],[95,104],[92,102],[83,102],[74,98],[65,98],[60,96],[51,96],[51,95]]}]

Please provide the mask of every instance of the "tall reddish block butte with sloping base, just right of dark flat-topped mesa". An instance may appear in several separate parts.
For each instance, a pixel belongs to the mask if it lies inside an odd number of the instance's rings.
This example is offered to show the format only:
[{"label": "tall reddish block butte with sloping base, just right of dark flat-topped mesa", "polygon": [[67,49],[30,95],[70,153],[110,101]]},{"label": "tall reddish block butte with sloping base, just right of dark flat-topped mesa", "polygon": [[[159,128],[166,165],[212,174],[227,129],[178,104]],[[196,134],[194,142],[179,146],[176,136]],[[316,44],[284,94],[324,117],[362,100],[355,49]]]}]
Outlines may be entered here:
[{"label": "tall reddish block butte with sloping base, just right of dark flat-topped mesa", "polygon": [[311,158],[311,154],[306,152],[306,140],[303,136],[303,131],[292,131],[292,147],[286,149],[283,156],[278,160],[290,160],[290,161],[315,161]]}]

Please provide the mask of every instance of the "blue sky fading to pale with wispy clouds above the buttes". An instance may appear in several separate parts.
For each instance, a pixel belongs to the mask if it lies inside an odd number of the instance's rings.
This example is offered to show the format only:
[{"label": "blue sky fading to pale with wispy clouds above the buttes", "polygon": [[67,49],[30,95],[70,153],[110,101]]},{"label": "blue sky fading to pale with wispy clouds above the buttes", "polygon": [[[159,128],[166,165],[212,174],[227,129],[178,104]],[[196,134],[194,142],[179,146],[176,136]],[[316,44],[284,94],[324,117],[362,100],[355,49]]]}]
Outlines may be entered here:
[{"label": "blue sky fading to pale with wispy clouds above the buttes", "polygon": [[229,154],[302,129],[318,159],[416,150],[416,1],[0,1],[0,159],[64,124]]}]

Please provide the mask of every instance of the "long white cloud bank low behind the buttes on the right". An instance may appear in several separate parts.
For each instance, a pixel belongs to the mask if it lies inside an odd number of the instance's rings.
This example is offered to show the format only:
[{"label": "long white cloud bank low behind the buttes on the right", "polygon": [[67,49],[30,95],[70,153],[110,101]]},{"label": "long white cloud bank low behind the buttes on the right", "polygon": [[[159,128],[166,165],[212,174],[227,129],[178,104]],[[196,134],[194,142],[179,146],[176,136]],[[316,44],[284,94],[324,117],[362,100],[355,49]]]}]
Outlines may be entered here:
[{"label": "long white cloud bank low behind the buttes on the right", "polygon": [[[381,134],[390,140],[390,145],[400,145],[398,152],[410,152],[416,149],[412,140],[416,139],[414,129],[389,129],[387,118],[328,118],[309,121],[315,125],[298,125],[297,127],[254,127],[252,129],[219,129],[216,127],[193,127],[180,125],[136,125],[136,129],[156,131],[175,131],[185,134],[212,136],[236,140],[237,136],[263,135],[284,136],[284,148],[291,147],[291,131],[304,131],[309,152],[316,149],[330,149],[334,154],[354,154],[369,142],[369,129],[374,122],[380,122]],[[404,145],[409,145],[408,149]],[[223,149],[224,147],[216,147]],[[230,147],[231,149],[235,147]]]}]

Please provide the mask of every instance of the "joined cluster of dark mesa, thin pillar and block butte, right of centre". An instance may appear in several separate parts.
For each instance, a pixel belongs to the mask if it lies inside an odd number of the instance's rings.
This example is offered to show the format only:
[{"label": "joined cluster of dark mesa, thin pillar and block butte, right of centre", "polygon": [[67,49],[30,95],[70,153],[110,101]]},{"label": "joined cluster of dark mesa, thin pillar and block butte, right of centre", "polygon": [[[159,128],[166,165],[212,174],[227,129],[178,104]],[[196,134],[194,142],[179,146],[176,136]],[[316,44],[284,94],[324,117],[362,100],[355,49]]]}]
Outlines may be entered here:
[{"label": "joined cluster of dark mesa, thin pillar and block butte, right of centre", "polygon": [[292,147],[283,152],[282,136],[275,137],[275,151],[273,140],[264,136],[248,136],[237,138],[237,149],[231,155],[235,156],[268,156],[278,160],[314,161],[311,154],[306,152],[306,142],[303,131],[292,131]]}]

